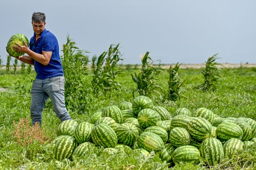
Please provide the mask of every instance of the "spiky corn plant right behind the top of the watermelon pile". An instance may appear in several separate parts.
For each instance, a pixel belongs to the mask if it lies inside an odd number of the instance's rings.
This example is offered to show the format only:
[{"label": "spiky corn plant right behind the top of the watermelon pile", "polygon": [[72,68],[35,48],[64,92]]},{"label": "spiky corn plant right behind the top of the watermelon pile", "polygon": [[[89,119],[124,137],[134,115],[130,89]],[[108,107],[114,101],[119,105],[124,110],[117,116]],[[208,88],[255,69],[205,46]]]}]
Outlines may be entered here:
[{"label": "spiky corn plant right behind the top of the watermelon pile", "polygon": [[137,88],[133,91],[133,97],[135,98],[135,92],[139,95],[145,95],[153,97],[153,94],[161,95],[158,90],[161,86],[157,85],[155,82],[158,80],[158,74],[162,72],[162,68],[154,67],[154,61],[148,56],[149,52],[141,57],[141,70],[138,74],[131,74],[132,80],[137,84]]}]

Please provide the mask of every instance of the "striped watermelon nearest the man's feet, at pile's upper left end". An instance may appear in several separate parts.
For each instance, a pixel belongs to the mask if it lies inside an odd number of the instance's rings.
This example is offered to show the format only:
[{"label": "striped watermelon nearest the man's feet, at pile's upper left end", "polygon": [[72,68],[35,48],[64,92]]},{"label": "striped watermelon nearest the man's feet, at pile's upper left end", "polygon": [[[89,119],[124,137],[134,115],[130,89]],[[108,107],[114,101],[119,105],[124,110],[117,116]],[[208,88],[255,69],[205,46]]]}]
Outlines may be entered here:
[{"label": "striped watermelon nearest the man's feet, at pile's upper left end", "polygon": [[58,127],[57,134],[74,136],[75,128],[78,126],[78,123],[75,120],[64,120]]}]

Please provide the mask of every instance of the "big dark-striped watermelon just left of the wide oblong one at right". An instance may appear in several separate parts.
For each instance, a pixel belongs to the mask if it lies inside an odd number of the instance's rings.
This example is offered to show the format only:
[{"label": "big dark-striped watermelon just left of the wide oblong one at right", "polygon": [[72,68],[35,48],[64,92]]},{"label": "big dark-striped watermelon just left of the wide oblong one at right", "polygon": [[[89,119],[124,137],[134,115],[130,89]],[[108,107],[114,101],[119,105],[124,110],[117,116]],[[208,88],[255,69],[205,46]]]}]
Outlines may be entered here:
[{"label": "big dark-striped watermelon just left of the wide oblong one at right", "polygon": [[202,117],[191,117],[188,125],[190,135],[196,140],[202,141],[211,135],[212,125]]}]

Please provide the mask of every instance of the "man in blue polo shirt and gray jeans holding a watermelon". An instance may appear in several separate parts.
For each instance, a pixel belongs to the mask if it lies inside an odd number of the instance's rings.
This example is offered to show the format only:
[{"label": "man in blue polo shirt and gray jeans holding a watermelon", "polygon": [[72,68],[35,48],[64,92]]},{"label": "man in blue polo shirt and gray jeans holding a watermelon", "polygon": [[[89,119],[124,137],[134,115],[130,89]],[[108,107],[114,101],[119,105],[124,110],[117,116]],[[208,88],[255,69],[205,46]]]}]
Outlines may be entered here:
[{"label": "man in blue polo shirt and gray jeans holding a watermelon", "polygon": [[54,34],[45,29],[45,19],[44,13],[33,13],[34,36],[29,41],[29,48],[26,43],[23,46],[13,46],[13,50],[27,54],[16,58],[23,63],[34,65],[37,74],[31,89],[30,113],[33,125],[37,122],[41,125],[42,111],[49,97],[57,117],[61,121],[71,119],[65,106],[65,80],[59,44]]}]

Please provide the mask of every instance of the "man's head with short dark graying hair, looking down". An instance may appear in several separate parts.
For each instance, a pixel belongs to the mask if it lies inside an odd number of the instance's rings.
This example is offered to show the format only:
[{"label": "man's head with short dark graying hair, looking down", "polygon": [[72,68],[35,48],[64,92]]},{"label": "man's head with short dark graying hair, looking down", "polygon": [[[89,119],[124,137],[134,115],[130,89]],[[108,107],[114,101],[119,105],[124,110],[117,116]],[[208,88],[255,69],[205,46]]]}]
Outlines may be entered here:
[{"label": "man's head with short dark graying hair, looking down", "polygon": [[40,35],[44,31],[46,25],[44,13],[33,13],[32,15],[33,30],[36,35]]}]

